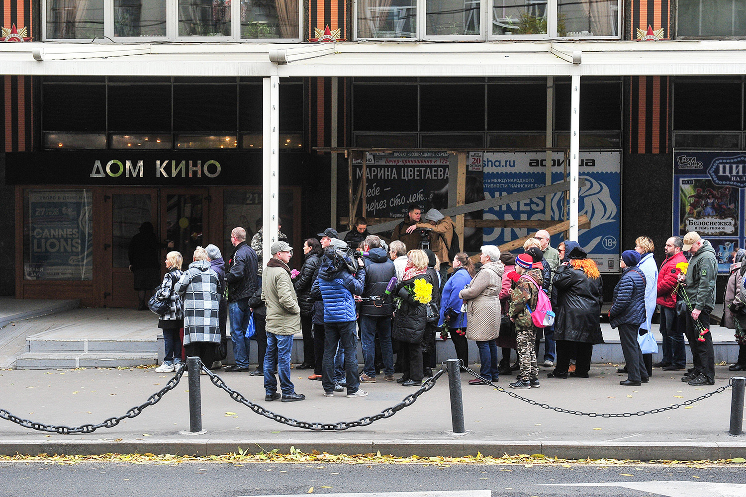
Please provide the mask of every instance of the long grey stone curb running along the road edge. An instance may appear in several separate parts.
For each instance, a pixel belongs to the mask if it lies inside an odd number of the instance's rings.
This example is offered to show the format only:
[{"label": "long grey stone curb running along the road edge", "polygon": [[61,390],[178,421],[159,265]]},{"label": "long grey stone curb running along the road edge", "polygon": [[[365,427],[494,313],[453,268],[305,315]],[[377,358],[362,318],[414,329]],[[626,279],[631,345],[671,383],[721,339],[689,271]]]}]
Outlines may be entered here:
[{"label": "long grey stone curb running along the road edge", "polygon": [[[735,439],[734,439],[735,440]],[[465,457],[483,456],[500,458],[503,455],[543,454],[560,459],[620,459],[620,460],[718,460],[746,457],[746,439],[728,442],[704,443],[608,443],[608,442],[516,442],[499,440],[345,440],[324,442],[314,440],[71,440],[69,442],[18,440],[1,441],[0,455],[101,455],[116,454],[173,454],[173,455],[222,455],[238,452],[239,447],[249,453],[278,449],[289,454],[290,447],[305,453],[314,450],[330,454],[375,454],[398,457]]]}]

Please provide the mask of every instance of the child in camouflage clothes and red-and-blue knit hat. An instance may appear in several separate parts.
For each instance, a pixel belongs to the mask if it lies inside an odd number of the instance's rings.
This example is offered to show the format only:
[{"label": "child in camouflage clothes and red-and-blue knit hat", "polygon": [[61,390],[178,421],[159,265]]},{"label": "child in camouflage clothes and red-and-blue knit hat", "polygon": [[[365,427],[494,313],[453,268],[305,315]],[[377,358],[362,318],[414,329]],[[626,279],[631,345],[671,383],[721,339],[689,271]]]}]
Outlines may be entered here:
[{"label": "child in camouflage clothes and red-and-blue knit hat", "polygon": [[532,269],[533,258],[523,253],[515,258],[515,272],[521,278],[515,282],[510,294],[508,317],[515,323],[516,341],[518,342],[518,361],[521,367],[518,381],[510,384],[513,388],[539,387],[539,366],[536,364],[536,326],[526,308],[536,309],[539,300],[539,288],[542,288],[542,270]]}]

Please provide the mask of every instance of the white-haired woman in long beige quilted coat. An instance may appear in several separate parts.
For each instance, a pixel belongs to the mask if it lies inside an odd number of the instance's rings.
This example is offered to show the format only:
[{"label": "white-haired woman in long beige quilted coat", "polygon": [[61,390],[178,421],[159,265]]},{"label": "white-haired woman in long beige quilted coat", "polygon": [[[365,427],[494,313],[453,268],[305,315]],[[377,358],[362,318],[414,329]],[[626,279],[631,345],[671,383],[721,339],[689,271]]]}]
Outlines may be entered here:
[{"label": "white-haired woman in long beige quilted coat", "polygon": [[[498,344],[500,335],[500,291],[503,285],[504,265],[500,262],[500,249],[495,245],[483,245],[479,256],[482,263],[477,276],[459,292],[459,298],[466,302],[466,338],[477,342],[482,364],[480,376],[497,382]],[[483,384],[475,378],[469,384]]]}]

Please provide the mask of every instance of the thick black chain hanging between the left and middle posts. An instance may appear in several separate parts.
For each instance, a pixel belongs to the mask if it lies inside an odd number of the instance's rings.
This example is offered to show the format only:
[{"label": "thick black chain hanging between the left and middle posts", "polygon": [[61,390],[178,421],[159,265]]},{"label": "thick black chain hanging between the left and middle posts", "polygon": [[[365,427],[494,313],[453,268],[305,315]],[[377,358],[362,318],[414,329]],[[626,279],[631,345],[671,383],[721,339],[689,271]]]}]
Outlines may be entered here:
[{"label": "thick black chain hanging between the left and middle posts", "polygon": [[303,428],[305,430],[310,431],[344,431],[348,428],[358,428],[360,426],[367,426],[372,424],[373,422],[376,422],[378,420],[386,419],[387,417],[392,417],[394,414],[398,413],[398,411],[401,411],[404,408],[409,407],[410,405],[413,405],[414,402],[417,400],[417,397],[421,396],[423,393],[427,392],[427,390],[430,390],[430,388],[435,386],[435,382],[442,376],[443,373],[445,373],[445,369],[439,370],[432,378],[425,379],[422,383],[422,386],[419,387],[418,390],[416,390],[413,393],[410,393],[410,395],[404,397],[401,402],[399,402],[397,405],[394,405],[390,408],[386,408],[383,411],[380,411],[378,414],[374,414],[373,416],[366,416],[361,417],[360,420],[355,421],[340,421],[340,422],[329,422],[329,423],[322,423],[322,422],[307,422],[307,421],[298,421],[294,420],[292,418],[283,416],[282,414],[275,414],[272,411],[268,411],[267,409],[263,408],[261,405],[254,404],[254,402],[251,402],[250,400],[246,399],[245,396],[243,396],[240,392],[237,392],[236,390],[233,390],[233,388],[229,387],[223,379],[220,376],[217,376],[215,373],[207,369],[207,367],[202,366],[202,370],[204,373],[207,373],[207,376],[210,376],[210,381],[215,384],[216,387],[222,388],[222,390],[225,390],[228,392],[228,394],[231,395],[231,398],[235,400],[236,402],[239,402],[239,404],[243,404],[251,411],[254,411],[257,414],[260,414],[263,417],[269,418],[270,420],[274,420],[280,423],[283,423],[284,425],[292,426],[293,428]]}]

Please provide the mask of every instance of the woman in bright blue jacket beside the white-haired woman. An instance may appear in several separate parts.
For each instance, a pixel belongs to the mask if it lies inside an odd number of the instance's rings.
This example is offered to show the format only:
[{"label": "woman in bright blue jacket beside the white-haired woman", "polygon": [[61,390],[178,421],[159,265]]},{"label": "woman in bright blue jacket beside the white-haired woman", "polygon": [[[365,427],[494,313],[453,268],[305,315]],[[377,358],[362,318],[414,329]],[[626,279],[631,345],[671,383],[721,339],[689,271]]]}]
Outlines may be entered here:
[{"label": "woman in bright blue jacket beside the white-haired woman", "polygon": [[[459,358],[464,366],[468,366],[468,342],[466,341],[466,312],[461,312],[463,300],[459,298],[459,292],[466,287],[477,273],[474,270],[474,262],[468,258],[466,252],[457,253],[454,256],[451,267],[454,272],[448,281],[445,282],[443,292],[440,297],[440,320],[438,326],[448,325],[451,330],[451,340],[454,341],[456,357]],[[446,311],[448,311],[448,322],[446,322]]]}]

